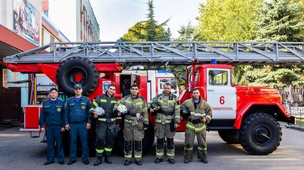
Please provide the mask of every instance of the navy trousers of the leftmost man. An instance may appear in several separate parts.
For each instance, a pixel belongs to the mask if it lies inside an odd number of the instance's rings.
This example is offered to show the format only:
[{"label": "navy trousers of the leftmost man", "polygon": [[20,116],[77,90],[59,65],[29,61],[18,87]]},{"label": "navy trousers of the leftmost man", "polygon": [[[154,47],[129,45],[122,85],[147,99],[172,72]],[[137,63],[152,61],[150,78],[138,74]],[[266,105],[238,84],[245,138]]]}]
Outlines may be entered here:
[{"label": "navy trousers of the leftmost man", "polygon": [[61,126],[47,126],[46,127],[46,136],[47,136],[47,161],[52,162],[54,161],[55,155],[55,142],[57,147],[57,160],[58,162],[63,162],[64,153],[63,153],[63,146],[62,146],[62,132]]}]

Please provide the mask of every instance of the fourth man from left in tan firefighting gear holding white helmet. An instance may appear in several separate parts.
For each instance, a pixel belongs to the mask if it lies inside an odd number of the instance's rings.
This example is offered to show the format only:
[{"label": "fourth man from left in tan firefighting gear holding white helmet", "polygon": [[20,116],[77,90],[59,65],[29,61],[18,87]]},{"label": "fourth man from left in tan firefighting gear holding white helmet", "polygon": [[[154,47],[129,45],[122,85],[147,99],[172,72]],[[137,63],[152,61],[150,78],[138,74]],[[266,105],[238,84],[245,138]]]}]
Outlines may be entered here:
[{"label": "fourth man from left in tan firefighting gear holding white helmet", "polygon": [[142,155],[142,139],[144,131],[147,130],[149,125],[147,104],[145,98],[141,97],[138,93],[138,85],[131,86],[131,94],[123,97],[118,101],[113,108],[113,111],[120,116],[117,110],[119,104],[126,105],[128,113],[125,114],[124,121],[124,139],[125,139],[125,165],[131,163],[132,158],[132,143],[134,140],[134,159],[137,165],[141,165]]}]

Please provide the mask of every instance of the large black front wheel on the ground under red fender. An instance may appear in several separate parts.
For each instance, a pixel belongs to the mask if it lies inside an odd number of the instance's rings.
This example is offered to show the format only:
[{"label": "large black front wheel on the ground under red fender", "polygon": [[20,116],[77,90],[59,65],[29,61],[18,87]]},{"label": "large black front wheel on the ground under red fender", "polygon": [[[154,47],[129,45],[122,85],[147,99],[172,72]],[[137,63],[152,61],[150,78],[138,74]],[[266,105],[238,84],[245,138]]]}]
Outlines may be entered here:
[{"label": "large black front wheel on the ground under red fender", "polygon": [[253,155],[268,155],[282,140],[282,132],[275,118],[262,112],[250,115],[242,122],[240,143]]}]

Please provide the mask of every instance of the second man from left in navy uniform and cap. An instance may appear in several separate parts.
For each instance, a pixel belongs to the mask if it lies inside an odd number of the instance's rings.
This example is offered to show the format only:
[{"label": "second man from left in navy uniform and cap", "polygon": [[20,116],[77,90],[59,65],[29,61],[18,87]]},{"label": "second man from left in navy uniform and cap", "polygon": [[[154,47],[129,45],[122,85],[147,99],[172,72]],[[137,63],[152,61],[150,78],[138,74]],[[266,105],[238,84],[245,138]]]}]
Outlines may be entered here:
[{"label": "second man from left in navy uniform and cap", "polygon": [[70,135],[70,160],[67,162],[68,165],[77,160],[78,137],[80,137],[82,146],[82,161],[84,164],[89,164],[88,130],[91,128],[89,112],[92,113],[94,109],[91,108],[90,99],[83,96],[82,92],[82,85],[75,84],[75,96],[68,98],[65,106],[65,130],[69,131]]}]

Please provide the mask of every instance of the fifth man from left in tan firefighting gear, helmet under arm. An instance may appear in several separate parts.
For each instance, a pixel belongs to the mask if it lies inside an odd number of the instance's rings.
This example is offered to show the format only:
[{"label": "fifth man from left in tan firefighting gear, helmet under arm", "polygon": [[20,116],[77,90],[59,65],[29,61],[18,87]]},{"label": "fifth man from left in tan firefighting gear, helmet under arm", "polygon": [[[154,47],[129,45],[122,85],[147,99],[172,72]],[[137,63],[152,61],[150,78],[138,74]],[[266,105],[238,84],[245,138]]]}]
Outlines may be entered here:
[{"label": "fifth man from left in tan firefighting gear, helmet under arm", "polygon": [[160,163],[164,158],[164,138],[167,138],[167,157],[171,164],[174,164],[174,142],[175,128],[180,123],[179,105],[176,103],[176,95],[171,93],[171,84],[164,84],[162,94],[155,96],[149,103],[150,113],[154,110],[150,108],[151,103],[159,103],[161,111],[156,115],[155,137],[157,137],[155,163]]}]

